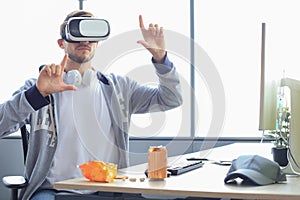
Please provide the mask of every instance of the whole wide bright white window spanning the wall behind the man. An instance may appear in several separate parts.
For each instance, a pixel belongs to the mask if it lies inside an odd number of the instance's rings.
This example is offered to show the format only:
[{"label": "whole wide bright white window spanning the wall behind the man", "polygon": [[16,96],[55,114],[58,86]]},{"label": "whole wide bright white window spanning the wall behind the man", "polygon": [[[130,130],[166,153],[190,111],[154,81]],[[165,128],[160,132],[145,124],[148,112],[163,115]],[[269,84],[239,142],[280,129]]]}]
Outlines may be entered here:
[{"label": "whole wide bright white window spanning the wall behind the man", "polygon": [[[194,107],[191,107],[190,2],[194,2],[195,13]],[[136,43],[141,39],[138,15],[143,15],[145,26],[154,22],[165,28],[168,54],[183,83],[184,104],[166,113],[133,116],[132,136],[191,137],[191,121],[195,120],[196,137],[256,137],[261,134],[258,131],[261,23],[265,22],[267,27],[266,66],[274,68],[279,78],[285,70],[285,76],[299,79],[300,14],[296,3],[297,0],[111,0],[104,4],[86,0],[83,7],[111,24],[109,40],[98,48],[96,68],[127,75],[148,85],[155,84],[156,77],[150,54]],[[3,85],[0,102],[10,98],[27,78],[37,77],[40,65],[61,61],[63,52],[56,44],[59,25],[66,14],[78,8],[78,0],[6,2],[0,13],[2,70],[5,70],[0,73]],[[113,48],[107,49],[105,45]],[[103,60],[106,58],[111,59]],[[220,89],[224,89],[223,94]],[[191,111],[195,112],[195,119],[191,119]]]}]

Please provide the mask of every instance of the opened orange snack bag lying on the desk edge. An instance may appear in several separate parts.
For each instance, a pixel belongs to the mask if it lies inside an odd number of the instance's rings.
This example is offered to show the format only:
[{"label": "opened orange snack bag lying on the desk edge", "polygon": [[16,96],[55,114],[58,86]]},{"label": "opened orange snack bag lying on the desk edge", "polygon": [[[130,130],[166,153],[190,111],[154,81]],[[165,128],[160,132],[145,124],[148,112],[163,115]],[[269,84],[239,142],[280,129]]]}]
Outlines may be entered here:
[{"label": "opened orange snack bag lying on the desk edge", "polygon": [[117,176],[117,165],[103,161],[89,161],[78,166],[90,181],[111,183]]}]

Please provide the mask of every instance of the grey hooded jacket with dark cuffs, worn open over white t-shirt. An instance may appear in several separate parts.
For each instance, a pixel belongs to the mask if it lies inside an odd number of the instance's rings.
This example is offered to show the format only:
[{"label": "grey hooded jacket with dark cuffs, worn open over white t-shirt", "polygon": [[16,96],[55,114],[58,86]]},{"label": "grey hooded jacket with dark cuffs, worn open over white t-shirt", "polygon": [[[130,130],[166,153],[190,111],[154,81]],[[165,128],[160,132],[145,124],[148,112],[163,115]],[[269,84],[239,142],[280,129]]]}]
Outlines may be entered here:
[{"label": "grey hooded jacket with dark cuffs, worn open over white t-shirt", "polygon": [[[97,72],[119,149],[119,168],[129,164],[128,129],[131,114],[165,111],[182,104],[179,76],[173,63],[168,57],[164,64],[152,62],[159,79],[157,88],[139,85],[128,77]],[[28,200],[44,182],[59,134],[58,95],[43,97],[35,83],[36,79],[27,80],[10,100],[0,105],[0,138],[16,132],[24,124],[30,124],[24,174],[28,186],[21,191],[20,199],[23,200]]]}]

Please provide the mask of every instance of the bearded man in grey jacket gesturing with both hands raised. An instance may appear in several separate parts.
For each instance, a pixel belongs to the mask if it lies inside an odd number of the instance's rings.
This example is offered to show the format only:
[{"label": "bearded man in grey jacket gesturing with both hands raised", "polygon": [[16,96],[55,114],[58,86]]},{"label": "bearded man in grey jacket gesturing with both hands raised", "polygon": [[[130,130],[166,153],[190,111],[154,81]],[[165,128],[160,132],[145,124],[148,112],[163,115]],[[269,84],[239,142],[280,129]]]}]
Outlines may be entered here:
[{"label": "bearded man in grey jacket gesturing with both hands raised", "polygon": [[[17,131],[24,124],[31,127],[25,166],[28,186],[20,194],[24,200],[54,199],[55,193],[59,192],[53,190],[54,182],[82,177],[76,166],[90,160],[112,162],[119,168],[128,166],[131,114],[165,111],[182,104],[179,78],[167,57],[163,28],[150,24],[146,29],[142,16],[139,16],[144,40],[138,43],[152,54],[159,77],[158,87],[150,88],[129,78],[95,71],[92,58],[98,42],[72,42],[66,38],[68,19],[80,16],[94,17],[90,12],[74,11],[60,27],[61,38],[57,43],[65,52],[62,62],[43,65],[37,79],[26,81],[13,98],[0,106],[0,137]],[[76,79],[73,72],[79,72],[82,82],[72,81]],[[96,86],[90,83],[96,83]],[[93,130],[95,135],[90,137],[78,129],[82,121],[90,126],[89,119],[80,118],[85,108],[79,108],[81,112],[75,111],[81,104],[72,101],[76,95],[90,94],[91,91],[96,99],[91,116],[97,117],[99,130]],[[86,101],[79,99],[82,105]],[[103,139],[94,139],[99,136]]]}]

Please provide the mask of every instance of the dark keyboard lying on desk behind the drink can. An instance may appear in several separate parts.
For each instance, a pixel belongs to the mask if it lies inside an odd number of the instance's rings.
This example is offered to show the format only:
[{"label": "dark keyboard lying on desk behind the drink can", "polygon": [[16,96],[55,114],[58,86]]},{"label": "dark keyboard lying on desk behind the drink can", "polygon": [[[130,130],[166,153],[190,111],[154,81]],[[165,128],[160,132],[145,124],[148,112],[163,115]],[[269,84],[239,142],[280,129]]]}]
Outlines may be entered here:
[{"label": "dark keyboard lying on desk behind the drink can", "polygon": [[203,165],[204,162],[202,162],[201,160],[195,160],[195,161],[182,160],[182,161],[171,163],[171,166],[169,166],[167,170],[168,172],[171,173],[171,175],[179,175],[200,168]]}]

